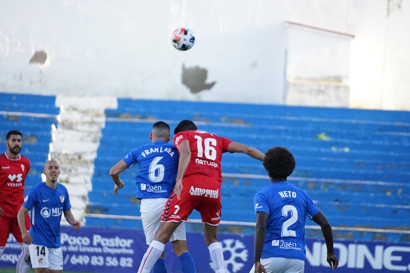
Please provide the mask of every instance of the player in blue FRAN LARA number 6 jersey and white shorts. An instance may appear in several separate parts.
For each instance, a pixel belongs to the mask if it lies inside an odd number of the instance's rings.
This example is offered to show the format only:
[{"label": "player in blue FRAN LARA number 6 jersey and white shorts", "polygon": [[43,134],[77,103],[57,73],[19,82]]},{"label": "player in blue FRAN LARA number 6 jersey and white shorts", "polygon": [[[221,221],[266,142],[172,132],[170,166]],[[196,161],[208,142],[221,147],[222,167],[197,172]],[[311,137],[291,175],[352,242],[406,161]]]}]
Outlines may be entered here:
[{"label": "player in blue FRAN LARA number 6 jersey and white shorts", "polygon": [[[115,195],[118,193],[118,189],[124,186],[119,174],[135,164],[139,166],[136,176],[136,197],[141,199],[139,211],[147,245],[150,245],[154,240],[162,209],[175,186],[179,155],[175,146],[168,144],[170,138],[169,125],[163,121],[155,122],[150,133],[152,143],[132,150],[110,170],[110,176],[115,183]],[[170,241],[179,259],[182,272],[195,272],[194,260],[188,252],[185,223],[178,226]],[[163,257],[164,254],[162,253],[153,267],[153,273],[167,272]]]}]

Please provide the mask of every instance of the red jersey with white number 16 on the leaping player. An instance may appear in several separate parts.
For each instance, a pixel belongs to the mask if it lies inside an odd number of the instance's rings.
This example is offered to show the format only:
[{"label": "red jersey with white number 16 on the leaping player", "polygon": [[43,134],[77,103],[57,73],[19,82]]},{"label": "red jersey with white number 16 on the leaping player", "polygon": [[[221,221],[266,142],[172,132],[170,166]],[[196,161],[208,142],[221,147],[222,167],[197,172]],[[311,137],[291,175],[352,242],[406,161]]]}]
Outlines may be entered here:
[{"label": "red jersey with white number 16 on the leaping player", "polygon": [[179,143],[186,139],[189,141],[191,149],[191,161],[185,175],[200,173],[222,181],[222,153],[228,151],[228,145],[232,140],[201,130],[183,131],[174,137],[176,148],[178,148]]}]

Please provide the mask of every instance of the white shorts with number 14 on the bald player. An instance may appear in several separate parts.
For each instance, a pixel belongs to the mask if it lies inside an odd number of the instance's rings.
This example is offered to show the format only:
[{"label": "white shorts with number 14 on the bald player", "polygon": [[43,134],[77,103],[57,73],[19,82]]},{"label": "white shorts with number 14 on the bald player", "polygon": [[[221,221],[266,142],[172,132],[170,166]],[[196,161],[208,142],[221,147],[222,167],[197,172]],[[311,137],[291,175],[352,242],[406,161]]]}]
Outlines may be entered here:
[{"label": "white shorts with number 14 on the bald player", "polygon": [[49,248],[43,245],[30,244],[29,252],[33,268],[63,270],[63,251],[61,251],[61,247]]}]

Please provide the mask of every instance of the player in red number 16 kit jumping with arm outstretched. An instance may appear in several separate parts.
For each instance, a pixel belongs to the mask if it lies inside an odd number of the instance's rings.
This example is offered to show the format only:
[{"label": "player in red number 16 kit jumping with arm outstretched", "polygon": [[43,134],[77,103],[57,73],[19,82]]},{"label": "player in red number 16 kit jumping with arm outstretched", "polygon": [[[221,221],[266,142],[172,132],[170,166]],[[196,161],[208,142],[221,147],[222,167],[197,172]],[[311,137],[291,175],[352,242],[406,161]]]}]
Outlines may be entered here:
[{"label": "player in red number 16 kit jumping with arm outstretched", "polygon": [[175,228],[181,221],[187,221],[194,209],[201,214],[213,268],[217,273],[225,272],[223,251],[217,238],[221,217],[221,157],[225,152],[245,153],[262,161],[264,154],[251,146],[197,130],[191,120],[179,122],[174,133],[179,152],[174,192],[163,209],[161,224],[142,258],[138,273],[151,271]]}]

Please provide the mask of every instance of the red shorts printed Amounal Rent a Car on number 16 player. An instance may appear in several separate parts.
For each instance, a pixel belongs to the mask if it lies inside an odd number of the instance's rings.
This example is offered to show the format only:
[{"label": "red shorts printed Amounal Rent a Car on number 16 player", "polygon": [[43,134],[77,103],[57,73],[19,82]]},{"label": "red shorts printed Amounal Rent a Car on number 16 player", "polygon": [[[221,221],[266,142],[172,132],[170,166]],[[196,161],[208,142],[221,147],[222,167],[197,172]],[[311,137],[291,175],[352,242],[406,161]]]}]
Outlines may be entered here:
[{"label": "red shorts printed Amounal Rent a Car on number 16 player", "polygon": [[181,199],[174,192],[165,205],[161,221],[187,221],[196,209],[203,223],[218,225],[221,218],[221,182],[203,174],[185,176],[182,180]]}]

